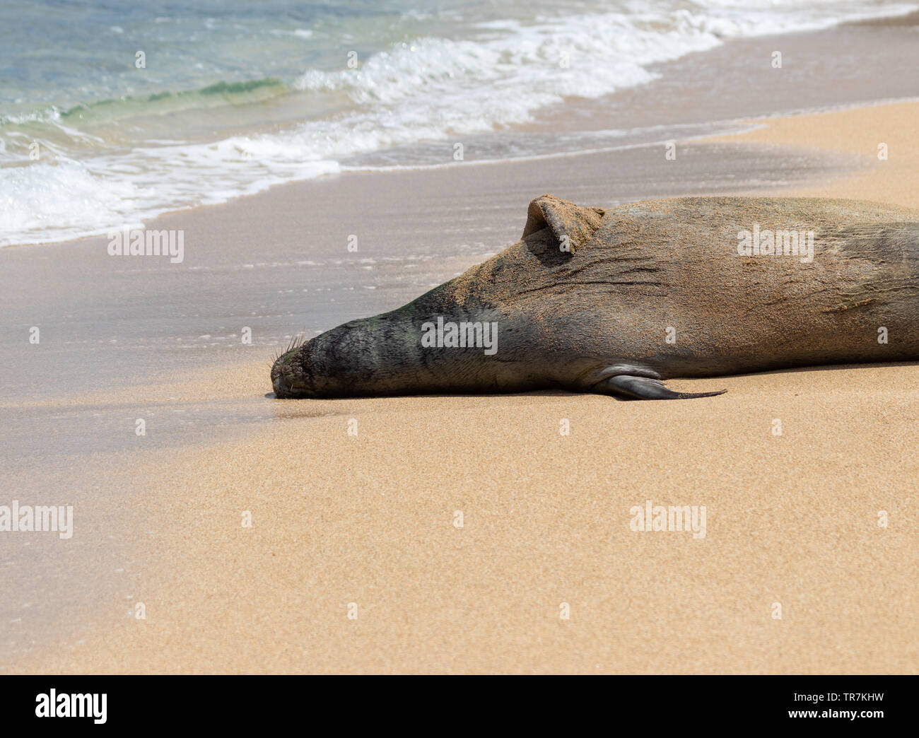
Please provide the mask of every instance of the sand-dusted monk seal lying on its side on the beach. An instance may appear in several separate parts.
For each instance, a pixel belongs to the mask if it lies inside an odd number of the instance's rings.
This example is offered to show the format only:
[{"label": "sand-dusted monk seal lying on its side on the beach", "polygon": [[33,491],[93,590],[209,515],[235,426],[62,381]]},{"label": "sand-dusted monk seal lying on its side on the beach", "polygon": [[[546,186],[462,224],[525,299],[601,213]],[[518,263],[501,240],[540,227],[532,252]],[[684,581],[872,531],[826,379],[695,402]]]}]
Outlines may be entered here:
[{"label": "sand-dusted monk seal lying on its side on the beach", "polygon": [[[919,358],[919,213],[845,199],[544,195],[521,240],[392,312],[291,346],[279,398],[564,389]],[[494,329],[494,335],[490,335]],[[491,342],[491,343],[490,343]]]}]

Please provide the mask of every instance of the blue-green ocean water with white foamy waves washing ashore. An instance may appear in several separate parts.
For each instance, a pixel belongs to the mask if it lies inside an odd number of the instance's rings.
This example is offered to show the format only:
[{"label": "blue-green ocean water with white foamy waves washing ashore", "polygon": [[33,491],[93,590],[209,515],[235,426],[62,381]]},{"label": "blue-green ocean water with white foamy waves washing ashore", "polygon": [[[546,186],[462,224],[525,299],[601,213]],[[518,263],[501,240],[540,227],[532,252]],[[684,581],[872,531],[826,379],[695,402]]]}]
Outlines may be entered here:
[{"label": "blue-green ocean water with white foamy waves washing ashore", "polygon": [[[638,145],[547,131],[726,40],[902,15],[880,0],[5,0],[0,245],[138,227],[348,169]],[[140,54],[142,52],[142,62]],[[563,116],[562,116],[563,117]],[[680,131],[692,134],[694,130]]]}]

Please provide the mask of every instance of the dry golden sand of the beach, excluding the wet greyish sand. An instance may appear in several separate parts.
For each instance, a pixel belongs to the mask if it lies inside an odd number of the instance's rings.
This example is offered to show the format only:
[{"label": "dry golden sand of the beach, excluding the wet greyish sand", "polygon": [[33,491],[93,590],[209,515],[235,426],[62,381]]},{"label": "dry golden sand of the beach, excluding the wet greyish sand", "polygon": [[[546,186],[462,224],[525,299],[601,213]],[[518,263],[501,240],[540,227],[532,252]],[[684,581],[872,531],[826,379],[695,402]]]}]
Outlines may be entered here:
[{"label": "dry golden sand of the beach, excluding the wet greyish sand", "polygon": [[[859,108],[745,140],[864,155],[795,194],[917,207],[917,121],[913,103]],[[270,389],[261,364],[224,384]],[[241,439],[116,455],[156,563],[96,630],[13,670],[915,673],[919,370],[671,386],[728,393],[278,402]],[[188,374],[153,394],[201,392]],[[705,538],[630,530],[649,499],[705,505]]]}]

